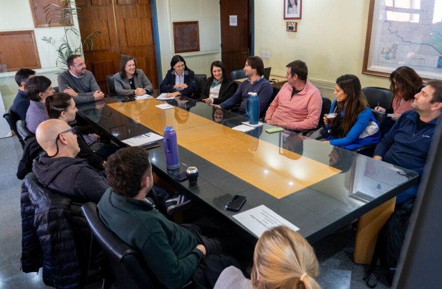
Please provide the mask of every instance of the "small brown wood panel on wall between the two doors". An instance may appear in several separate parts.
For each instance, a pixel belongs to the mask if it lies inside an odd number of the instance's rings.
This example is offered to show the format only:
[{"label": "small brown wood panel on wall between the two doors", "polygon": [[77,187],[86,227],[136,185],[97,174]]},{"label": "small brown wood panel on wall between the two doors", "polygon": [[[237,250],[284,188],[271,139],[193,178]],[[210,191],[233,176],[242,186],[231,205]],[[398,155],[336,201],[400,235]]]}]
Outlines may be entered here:
[{"label": "small brown wood panel on wall between the two doors", "polygon": [[200,51],[198,21],[174,22],[173,44],[175,53]]}]

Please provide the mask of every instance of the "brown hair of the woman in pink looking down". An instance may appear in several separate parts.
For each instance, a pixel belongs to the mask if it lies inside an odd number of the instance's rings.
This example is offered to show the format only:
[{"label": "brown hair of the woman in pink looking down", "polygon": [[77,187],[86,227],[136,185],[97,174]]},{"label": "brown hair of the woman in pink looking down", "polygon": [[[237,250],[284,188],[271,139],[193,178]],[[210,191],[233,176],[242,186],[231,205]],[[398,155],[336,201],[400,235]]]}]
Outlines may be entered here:
[{"label": "brown hair of the woman in pink looking down", "polygon": [[411,67],[400,66],[390,74],[390,90],[404,100],[413,99],[421,86],[422,78]]}]

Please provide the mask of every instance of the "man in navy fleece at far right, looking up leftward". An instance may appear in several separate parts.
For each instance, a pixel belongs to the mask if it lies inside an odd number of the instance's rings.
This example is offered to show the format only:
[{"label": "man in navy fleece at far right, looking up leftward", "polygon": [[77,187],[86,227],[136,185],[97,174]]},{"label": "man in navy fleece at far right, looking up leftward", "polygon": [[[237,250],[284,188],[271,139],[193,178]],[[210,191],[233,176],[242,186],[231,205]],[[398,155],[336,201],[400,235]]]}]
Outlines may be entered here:
[{"label": "man in navy fleece at far right, looking up leftward", "polygon": [[[403,113],[377,144],[374,159],[404,167],[422,176],[431,139],[442,110],[442,80],[430,80],[412,102],[414,110]],[[396,203],[415,198],[418,187],[399,194]]]}]

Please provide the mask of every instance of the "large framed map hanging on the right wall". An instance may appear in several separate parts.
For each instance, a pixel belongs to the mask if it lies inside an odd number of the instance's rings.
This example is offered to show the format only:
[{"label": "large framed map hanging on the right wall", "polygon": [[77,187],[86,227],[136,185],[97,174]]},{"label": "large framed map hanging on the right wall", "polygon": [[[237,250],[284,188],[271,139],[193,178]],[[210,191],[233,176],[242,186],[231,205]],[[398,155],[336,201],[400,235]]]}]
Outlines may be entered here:
[{"label": "large framed map hanging on the right wall", "polygon": [[370,0],[362,73],[389,77],[403,65],[442,79],[442,0]]}]

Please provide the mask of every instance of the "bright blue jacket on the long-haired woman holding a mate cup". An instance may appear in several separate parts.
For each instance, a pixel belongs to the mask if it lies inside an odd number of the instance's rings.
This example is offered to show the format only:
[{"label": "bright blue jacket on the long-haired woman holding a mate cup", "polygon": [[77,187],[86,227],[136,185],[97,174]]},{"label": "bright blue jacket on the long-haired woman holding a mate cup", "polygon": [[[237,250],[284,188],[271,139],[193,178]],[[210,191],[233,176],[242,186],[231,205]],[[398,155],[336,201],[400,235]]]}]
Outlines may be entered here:
[{"label": "bright blue jacket on the long-haired woman holding a mate cup", "polygon": [[[332,114],[334,111],[334,107],[336,106],[336,99],[333,101],[332,106],[330,108],[330,113]],[[352,144],[359,138],[359,135],[365,130],[370,121],[371,117],[370,107],[367,107],[365,111],[359,113],[358,118],[356,119],[356,123],[353,125],[352,129],[349,131],[345,137],[336,138],[333,135],[329,135],[327,137],[330,140],[330,144],[336,147],[344,147]],[[341,111],[341,117],[344,116],[344,110]],[[328,125],[326,125],[326,130],[330,129]]]}]

